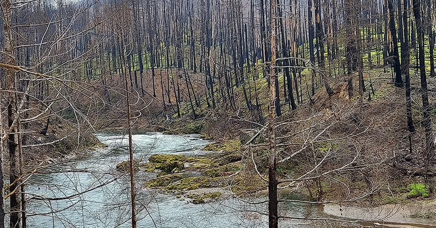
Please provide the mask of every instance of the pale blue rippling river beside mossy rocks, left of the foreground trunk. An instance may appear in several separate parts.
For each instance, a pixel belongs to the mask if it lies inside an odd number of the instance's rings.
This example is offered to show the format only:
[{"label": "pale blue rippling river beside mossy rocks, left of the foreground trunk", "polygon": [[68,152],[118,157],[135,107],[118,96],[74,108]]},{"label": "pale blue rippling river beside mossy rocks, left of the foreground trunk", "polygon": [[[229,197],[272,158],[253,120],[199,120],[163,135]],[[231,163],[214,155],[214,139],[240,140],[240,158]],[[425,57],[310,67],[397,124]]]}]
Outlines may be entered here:
[{"label": "pale blue rippling river beside mossy rocks, left of the foreground trunk", "polygon": [[[97,134],[108,147],[100,148],[34,175],[26,185],[30,199],[30,227],[129,227],[129,175],[115,169],[128,160],[127,136]],[[152,154],[199,156],[208,140],[199,135],[133,135],[134,157],[147,161]],[[266,217],[247,211],[263,210],[232,197],[206,204],[191,204],[173,195],[142,187],[155,173],[136,173],[138,227],[267,227]],[[100,186],[97,187],[96,186]],[[95,189],[93,189],[95,188]],[[83,193],[85,192],[85,193]],[[82,193],[82,194],[79,194]],[[54,199],[56,198],[56,199]]]}]

